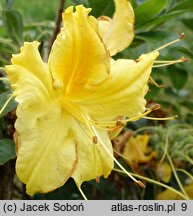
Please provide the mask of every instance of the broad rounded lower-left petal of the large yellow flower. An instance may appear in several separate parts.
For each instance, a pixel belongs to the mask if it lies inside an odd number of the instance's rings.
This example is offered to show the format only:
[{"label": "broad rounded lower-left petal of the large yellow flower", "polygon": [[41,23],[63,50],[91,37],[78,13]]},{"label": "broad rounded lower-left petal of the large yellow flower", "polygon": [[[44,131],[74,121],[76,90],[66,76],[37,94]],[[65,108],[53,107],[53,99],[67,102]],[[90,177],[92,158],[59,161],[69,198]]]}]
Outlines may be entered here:
[{"label": "broad rounded lower-left petal of the large yellow flower", "polygon": [[27,193],[47,193],[62,186],[78,162],[73,118],[55,103],[45,104],[39,111],[19,105],[17,117],[16,172]]}]

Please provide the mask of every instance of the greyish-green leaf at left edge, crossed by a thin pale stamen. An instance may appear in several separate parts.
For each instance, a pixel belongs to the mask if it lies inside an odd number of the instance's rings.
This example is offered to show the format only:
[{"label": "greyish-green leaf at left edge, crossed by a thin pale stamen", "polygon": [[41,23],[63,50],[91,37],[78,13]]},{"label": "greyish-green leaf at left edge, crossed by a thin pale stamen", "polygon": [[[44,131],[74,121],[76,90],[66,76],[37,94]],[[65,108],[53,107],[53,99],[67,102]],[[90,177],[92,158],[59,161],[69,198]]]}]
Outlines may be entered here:
[{"label": "greyish-green leaf at left edge, crossed by a thin pale stamen", "polygon": [[[11,92],[10,91],[6,91],[3,92],[2,94],[0,94],[0,109],[3,107],[3,105],[5,104],[5,102],[7,101],[7,99],[10,97]],[[8,105],[6,106],[6,108],[4,109],[4,111],[1,113],[0,117],[2,117],[3,115],[5,115],[8,112],[13,111],[17,106],[17,103],[15,102],[15,100],[11,100]]]}]

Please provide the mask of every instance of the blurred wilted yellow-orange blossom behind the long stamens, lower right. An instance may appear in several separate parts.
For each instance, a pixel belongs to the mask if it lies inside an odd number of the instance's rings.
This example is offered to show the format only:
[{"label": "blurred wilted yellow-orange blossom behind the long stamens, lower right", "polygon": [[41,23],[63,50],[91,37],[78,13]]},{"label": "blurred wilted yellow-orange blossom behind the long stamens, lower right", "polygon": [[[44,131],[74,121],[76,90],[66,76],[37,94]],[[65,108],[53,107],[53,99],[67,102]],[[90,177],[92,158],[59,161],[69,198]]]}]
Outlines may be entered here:
[{"label": "blurred wilted yellow-orange blossom behind the long stamens, lower right", "polygon": [[149,136],[147,134],[131,137],[123,150],[126,162],[132,166],[133,163],[148,163],[156,156],[156,152],[148,152]]}]

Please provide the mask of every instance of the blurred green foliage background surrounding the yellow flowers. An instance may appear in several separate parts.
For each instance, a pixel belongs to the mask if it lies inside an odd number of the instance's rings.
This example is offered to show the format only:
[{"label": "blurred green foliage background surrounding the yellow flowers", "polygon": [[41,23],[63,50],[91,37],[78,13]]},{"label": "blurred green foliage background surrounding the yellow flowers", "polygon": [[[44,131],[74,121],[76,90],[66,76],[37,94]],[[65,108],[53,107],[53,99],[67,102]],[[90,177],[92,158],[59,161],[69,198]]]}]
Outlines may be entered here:
[{"label": "blurred green foliage background surrounding the yellow flowers", "polygon": [[[152,77],[164,88],[150,84],[147,95],[148,104],[159,103],[162,108],[154,112],[153,117],[178,115],[172,121],[149,121],[146,119],[128,124],[114,146],[129,132],[148,134],[149,148],[156,152],[156,158],[146,163],[135,163],[135,168],[127,164],[120,155],[118,159],[124,166],[151,180],[171,186],[184,195],[193,198],[187,187],[192,188],[193,173],[193,1],[192,0],[131,0],[135,10],[135,39],[130,47],[115,58],[137,58],[140,54],[152,51],[165,43],[178,38],[181,32],[185,40],[161,51],[159,59],[174,60],[181,56],[189,62],[163,68],[155,68]],[[52,0],[1,0],[0,1],[0,76],[5,76],[4,66],[10,63],[11,54],[17,53],[24,41],[38,40],[44,59],[48,54],[50,40],[55,29],[55,19],[60,1]],[[113,0],[66,0],[69,5],[84,4],[92,8],[91,14],[112,16]],[[6,81],[0,81],[0,107],[7,100],[10,87]],[[16,103],[12,100],[0,118],[0,198],[31,199],[25,193],[25,186],[15,175],[15,147],[13,143]],[[142,128],[142,129],[140,129]],[[118,142],[118,144],[116,143]],[[125,141],[124,145],[128,140]],[[165,146],[168,157],[162,158]],[[122,154],[122,152],[118,152]],[[161,161],[161,158],[163,159]],[[170,163],[170,159],[172,164]],[[160,161],[162,163],[160,163]],[[167,182],[158,178],[158,165],[174,165]],[[166,169],[166,168],[164,168]],[[177,178],[176,178],[176,175]],[[180,183],[178,182],[180,181]],[[83,184],[83,191],[89,199],[179,199],[175,193],[165,190],[155,182],[146,183],[141,189],[124,175],[112,172],[108,179],[100,183],[90,181]],[[165,197],[163,192],[165,190]],[[193,190],[189,190],[193,191]],[[181,197],[182,198],[182,197]],[[82,199],[75,184],[70,179],[62,188],[49,194],[37,194],[33,199]]]}]

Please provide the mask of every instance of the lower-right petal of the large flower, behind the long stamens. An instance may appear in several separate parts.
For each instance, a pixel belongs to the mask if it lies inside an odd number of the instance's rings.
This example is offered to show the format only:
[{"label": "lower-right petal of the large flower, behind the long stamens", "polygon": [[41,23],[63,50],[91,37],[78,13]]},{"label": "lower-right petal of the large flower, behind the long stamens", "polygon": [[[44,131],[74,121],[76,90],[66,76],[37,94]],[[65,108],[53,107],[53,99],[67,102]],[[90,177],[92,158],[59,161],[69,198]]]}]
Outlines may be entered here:
[{"label": "lower-right petal of the large flower, behind the long stamens", "polygon": [[[93,137],[85,126],[79,124],[74,126],[78,142],[78,164],[72,178],[78,186],[84,181],[96,179],[97,177],[108,177],[113,169],[113,160],[106,153],[100,142],[94,143]],[[100,138],[113,155],[112,144],[105,131],[98,130]]]}]

